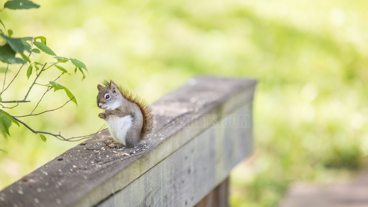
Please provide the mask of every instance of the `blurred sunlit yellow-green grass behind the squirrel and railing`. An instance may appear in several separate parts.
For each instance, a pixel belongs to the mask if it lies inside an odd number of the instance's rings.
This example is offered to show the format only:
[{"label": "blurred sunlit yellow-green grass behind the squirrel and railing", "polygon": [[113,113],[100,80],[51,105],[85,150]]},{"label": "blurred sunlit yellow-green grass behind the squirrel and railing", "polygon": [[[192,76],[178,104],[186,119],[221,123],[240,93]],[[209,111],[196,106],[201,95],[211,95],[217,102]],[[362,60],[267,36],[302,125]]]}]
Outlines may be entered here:
[{"label": "blurred sunlit yellow-green grass behind the squirrel and railing", "polygon": [[[45,36],[57,55],[79,59],[89,70],[83,81],[78,73],[59,81],[78,108],[68,103],[22,119],[34,129],[95,132],[103,124],[92,107],[96,84],[105,78],[152,103],[201,74],[252,77],[259,80],[256,150],[231,175],[232,206],[277,206],[291,182],[333,182],[366,166],[368,1],[34,2],[41,7],[1,11],[13,36]],[[52,61],[46,55],[33,60]],[[23,70],[3,99],[24,96],[31,83]],[[8,77],[15,72],[12,67]],[[47,83],[57,72],[44,75]],[[43,91],[34,87],[33,102],[8,111],[29,113]],[[39,110],[67,101],[58,92]],[[0,152],[0,188],[77,144],[50,136],[44,143],[23,126],[13,125],[10,134],[0,139],[7,151]]]}]

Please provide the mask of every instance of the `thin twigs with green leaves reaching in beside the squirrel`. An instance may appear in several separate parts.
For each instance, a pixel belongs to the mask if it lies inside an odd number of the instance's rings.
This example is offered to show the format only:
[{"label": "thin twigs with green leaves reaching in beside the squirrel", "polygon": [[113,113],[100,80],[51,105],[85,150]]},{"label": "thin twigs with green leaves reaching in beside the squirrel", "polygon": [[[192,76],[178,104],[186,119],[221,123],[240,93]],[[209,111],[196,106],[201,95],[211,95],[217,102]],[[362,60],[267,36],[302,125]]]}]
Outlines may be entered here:
[{"label": "thin twigs with green leaves reaching in beside the squirrel", "polygon": [[[40,7],[39,5],[29,0],[9,0],[4,4],[4,9],[7,8],[7,9],[12,9],[12,10],[30,9],[30,8],[39,8],[39,7]],[[47,131],[34,130],[27,123],[19,119],[19,118],[28,117],[28,116],[38,116],[46,112],[52,112],[52,111],[61,109],[69,102],[74,102],[75,105],[78,106],[77,99],[72,94],[72,92],[68,88],[66,88],[64,85],[61,85],[60,83],[56,83],[56,80],[58,80],[64,74],[70,75],[70,73],[68,73],[68,70],[64,66],[62,66],[63,64],[69,61],[71,64],[75,66],[74,73],[77,73],[77,71],[81,72],[82,80],[85,78],[85,72],[88,73],[88,70],[85,64],[77,59],[74,59],[71,57],[67,58],[67,57],[56,56],[56,53],[51,48],[49,48],[49,46],[47,46],[46,44],[47,39],[44,36],[36,36],[36,37],[26,36],[22,38],[13,38],[12,37],[13,31],[11,29],[6,29],[4,22],[1,19],[0,19],[0,23],[4,27],[4,31],[0,29],[0,39],[1,38],[3,39],[2,43],[0,43],[0,61],[7,64],[6,71],[4,74],[3,87],[0,91],[0,106],[2,106],[5,109],[12,109],[12,108],[18,107],[22,103],[31,102],[27,98],[29,94],[31,93],[32,88],[35,85],[39,85],[40,87],[46,87],[46,91],[43,93],[42,97],[40,97],[39,101],[37,102],[37,104],[35,105],[35,107],[29,114],[15,116],[15,115],[11,115],[5,110],[0,109],[0,131],[4,134],[4,136],[6,136],[6,134],[10,136],[9,128],[12,125],[12,123],[17,124],[18,126],[20,126],[20,123],[21,123],[23,126],[25,126],[27,129],[29,129],[33,133],[40,134],[40,138],[43,141],[46,141],[47,139],[45,135],[50,135],[50,136],[56,137],[57,139],[63,140],[63,141],[79,141],[85,138],[89,138],[97,133],[100,133],[103,130],[106,130],[106,129],[102,130],[102,127],[101,127],[99,131],[93,134],[88,134],[88,135],[79,136],[79,137],[66,138],[62,136],[60,132],[59,134],[55,134],[55,133],[50,133]],[[46,62],[42,64],[36,61],[33,62],[30,59],[31,57],[36,56],[37,54],[40,54],[41,52],[54,57],[57,61]],[[14,77],[10,80],[10,82],[6,84],[7,74],[11,70],[10,65],[16,65],[16,64],[21,64],[21,66],[15,73]],[[28,65],[28,68],[26,71],[26,77],[28,80],[29,78],[32,78],[33,81],[31,82],[31,85],[29,86],[28,90],[25,92],[24,98],[15,99],[15,100],[8,100],[8,99],[3,100],[2,96],[4,92],[7,91],[9,88],[11,88],[11,86],[14,83],[14,80],[20,76],[21,70],[25,65]],[[38,83],[38,80],[40,79],[41,74],[43,74],[44,71],[52,69],[52,68],[57,69],[57,71],[59,72],[61,71],[61,74],[58,75],[53,81],[48,81],[49,83],[47,84]],[[32,76],[32,74],[35,74],[35,76]],[[54,90],[54,92],[59,91],[59,90],[64,91],[68,97],[68,101],[66,101],[65,103],[63,103],[61,106],[57,108],[34,113],[35,110],[38,108],[39,103],[45,97],[45,94],[52,89]],[[15,103],[15,105],[8,106],[7,104],[9,103]]]}]

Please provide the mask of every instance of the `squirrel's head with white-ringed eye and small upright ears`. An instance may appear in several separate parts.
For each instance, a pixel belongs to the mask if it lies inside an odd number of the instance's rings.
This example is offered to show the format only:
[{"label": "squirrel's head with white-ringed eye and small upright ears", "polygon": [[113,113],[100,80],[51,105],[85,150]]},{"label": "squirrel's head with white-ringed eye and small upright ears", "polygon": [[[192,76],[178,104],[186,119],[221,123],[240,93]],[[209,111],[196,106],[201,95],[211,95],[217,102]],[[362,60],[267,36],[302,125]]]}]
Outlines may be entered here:
[{"label": "squirrel's head with white-ringed eye and small upright ears", "polygon": [[118,108],[123,100],[123,95],[121,95],[116,84],[110,81],[110,84],[103,87],[102,85],[97,85],[98,95],[97,95],[97,106],[106,110],[114,110]]}]

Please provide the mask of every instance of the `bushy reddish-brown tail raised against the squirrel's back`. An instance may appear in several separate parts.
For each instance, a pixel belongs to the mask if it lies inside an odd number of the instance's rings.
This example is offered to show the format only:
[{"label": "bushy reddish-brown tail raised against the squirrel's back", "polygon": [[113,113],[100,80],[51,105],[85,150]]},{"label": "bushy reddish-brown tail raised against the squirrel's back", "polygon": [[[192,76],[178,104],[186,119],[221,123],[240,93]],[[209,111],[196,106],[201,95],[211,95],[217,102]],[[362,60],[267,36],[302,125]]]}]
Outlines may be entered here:
[{"label": "bushy reddish-brown tail raised against the squirrel's back", "polygon": [[[109,86],[110,81],[104,80],[102,84],[106,87]],[[143,126],[140,134],[140,138],[145,138],[149,133],[152,132],[155,126],[155,116],[152,113],[151,107],[138,95],[133,95],[126,88],[121,87],[121,85],[117,85],[118,90],[121,95],[128,99],[131,102],[134,102],[138,105],[139,109],[141,109],[143,115]]]}]

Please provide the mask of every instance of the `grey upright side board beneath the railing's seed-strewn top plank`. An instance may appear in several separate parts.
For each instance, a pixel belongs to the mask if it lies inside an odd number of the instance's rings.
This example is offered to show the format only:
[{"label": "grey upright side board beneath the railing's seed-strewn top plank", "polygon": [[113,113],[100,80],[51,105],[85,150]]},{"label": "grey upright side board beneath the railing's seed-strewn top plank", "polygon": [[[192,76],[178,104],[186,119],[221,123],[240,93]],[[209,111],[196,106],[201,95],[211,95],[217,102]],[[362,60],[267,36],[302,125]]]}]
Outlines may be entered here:
[{"label": "grey upright side board beneath the railing's seed-strewn top plank", "polygon": [[[250,109],[248,103],[233,114],[247,115]],[[224,128],[224,122],[203,131],[101,206],[194,206],[252,150],[250,128]]]}]

